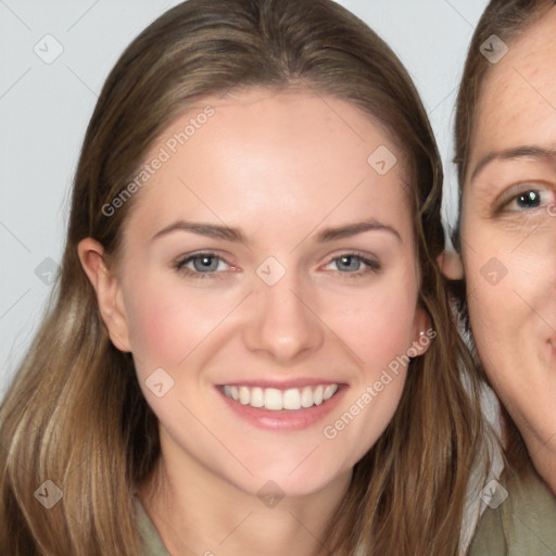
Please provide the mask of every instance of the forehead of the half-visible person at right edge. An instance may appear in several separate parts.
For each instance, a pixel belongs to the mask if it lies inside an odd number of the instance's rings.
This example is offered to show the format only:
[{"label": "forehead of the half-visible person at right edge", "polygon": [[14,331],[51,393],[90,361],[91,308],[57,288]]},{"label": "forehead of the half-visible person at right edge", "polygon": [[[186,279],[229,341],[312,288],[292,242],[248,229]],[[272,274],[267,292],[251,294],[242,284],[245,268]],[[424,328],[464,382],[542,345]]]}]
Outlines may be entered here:
[{"label": "forehead of the half-visible person at right edge", "polygon": [[471,159],[556,143],[556,9],[507,46],[481,87]]}]

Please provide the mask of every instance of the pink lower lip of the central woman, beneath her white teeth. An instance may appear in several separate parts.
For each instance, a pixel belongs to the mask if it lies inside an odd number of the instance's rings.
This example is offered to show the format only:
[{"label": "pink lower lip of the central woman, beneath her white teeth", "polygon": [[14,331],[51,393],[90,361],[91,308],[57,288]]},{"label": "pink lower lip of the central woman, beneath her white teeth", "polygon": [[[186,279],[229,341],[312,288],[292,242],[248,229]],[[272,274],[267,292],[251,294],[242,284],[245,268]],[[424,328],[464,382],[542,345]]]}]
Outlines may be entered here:
[{"label": "pink lower lip of the central woman, beneath her white teeth", "polygon": [[303,430],[312,427],[330,414],[338,406],[348,389],[343,386],[340,387],[330,400],[323,402],[320,405],[313,405],[312,407],[296,410],[281,409],[279,412],[240,404],[235,400],[230,400],[222,390],[217,390],[230,409],[255,427],[267,430]]}]

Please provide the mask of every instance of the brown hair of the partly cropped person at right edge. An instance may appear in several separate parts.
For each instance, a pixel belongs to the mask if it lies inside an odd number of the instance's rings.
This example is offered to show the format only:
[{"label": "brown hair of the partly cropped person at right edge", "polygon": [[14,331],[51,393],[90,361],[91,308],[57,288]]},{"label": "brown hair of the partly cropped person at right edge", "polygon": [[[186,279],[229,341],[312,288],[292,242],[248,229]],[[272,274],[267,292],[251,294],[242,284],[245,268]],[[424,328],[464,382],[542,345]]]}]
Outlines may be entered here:
[{"label": "brown hair of the partly cropped person at right edge", "polygon": [[[480,51],[481,45],[496,35],[506,45],[525,33],[549,8],[554,0],[491,0],[484,10],[469,45],[467,60],[459,85],[455,119],[455,157],[459,185],[459,211],[456,227],[452,232],[452,243],[457,252],[462,249],[462,202],[467,178],[469,153],[473,141],[477,111],[484,79],[492,64]],[[471,331],[464,280],[451,283],[457,308],[465,329]],[[472,337],[470,337],[472,340]],[[481,378],[489,382],[482,367]],[[505,407],[502,407],[505,425],[505,452],[508,463],[519,473],[531,469],[531,459],[525,441]]]}]

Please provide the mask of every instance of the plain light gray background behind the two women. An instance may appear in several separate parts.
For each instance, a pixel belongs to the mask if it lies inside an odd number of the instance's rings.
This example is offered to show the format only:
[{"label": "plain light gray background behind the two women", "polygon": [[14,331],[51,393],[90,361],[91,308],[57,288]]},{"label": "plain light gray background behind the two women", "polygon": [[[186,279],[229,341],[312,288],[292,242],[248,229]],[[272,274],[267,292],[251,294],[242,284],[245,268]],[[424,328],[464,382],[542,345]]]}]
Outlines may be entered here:
[{"label": "plain light gray background behind the two women", "polygon": [[[61,258],[72,178],[97,96],[124,48],[177,3],[0,0],[0,395],[50,293],[46,282]],[[340,3],[386,39],[414,78],[444,160],[444,215],[452,223],[454,101],[486,0]],[[46,35],[63,47],[51,64],[34,51],[37,43],[46,49]]]}]

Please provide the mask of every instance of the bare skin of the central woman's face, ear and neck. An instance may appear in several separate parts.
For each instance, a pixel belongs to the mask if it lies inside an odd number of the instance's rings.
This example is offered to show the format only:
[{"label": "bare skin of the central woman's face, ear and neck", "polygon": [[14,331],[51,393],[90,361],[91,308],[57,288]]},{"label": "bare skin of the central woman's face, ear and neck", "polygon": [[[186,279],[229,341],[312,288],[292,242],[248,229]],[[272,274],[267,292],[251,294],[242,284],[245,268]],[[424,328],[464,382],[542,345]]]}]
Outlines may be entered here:
[{"label": "bare skin of the central woman's face, ear and neck", "polygon": [[[406,369],[334,439],[323,429],[428,328],[417,307],[403,155],[339,100],[255,89],[206,104],[214,116],[137,193],[117,267],[105,267],[90,238],[79,255],[111,339],[132,352],[160,419],[161,488],[152,482],[140,495],[168,549],[318,554],[354,464],[395,412]],[[201,110],[184,114],[151,154]],[[384,176],[367,163],[379,146],[399,161]],[[177,220],[238,228],[244,238],[175,230],[153,239]],[[391,229],[316,239],[370,220]],[[175,268],[200,251],[223,260],[212,276]],[[376,268],[338,266],[336,257],[354,252]],[[274,286],[256,274],[267,257],[286,270]],[[162,397],[146,384],[157,368],[174,380]],[[301,430],[262,428],[216,388],[291,380],[341,383],[338,405]],[[267,481],[286,494],[271,508],[256,496]]]}]

